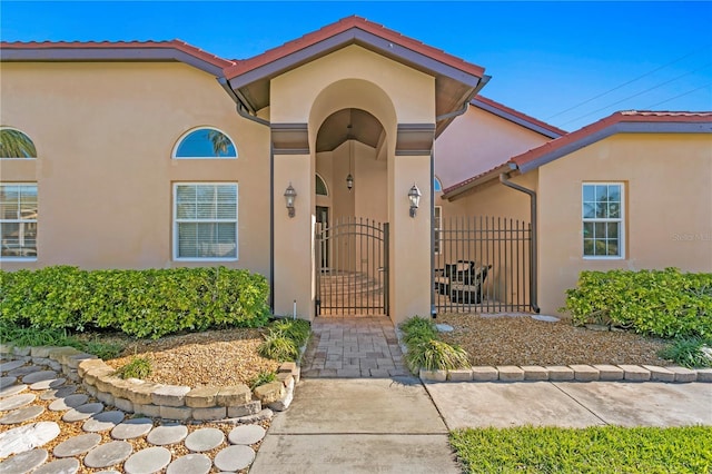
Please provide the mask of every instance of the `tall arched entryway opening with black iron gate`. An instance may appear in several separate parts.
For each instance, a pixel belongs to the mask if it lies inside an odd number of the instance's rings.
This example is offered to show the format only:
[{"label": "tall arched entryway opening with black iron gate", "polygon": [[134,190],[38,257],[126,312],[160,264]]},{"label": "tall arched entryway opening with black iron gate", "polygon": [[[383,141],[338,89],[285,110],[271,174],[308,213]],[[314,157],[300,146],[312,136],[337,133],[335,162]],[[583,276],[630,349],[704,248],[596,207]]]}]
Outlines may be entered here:
[{"label": "tall arched entryway opening with black iron gate", "polygon": [[380,121],[355,107],[333,112],[317,131],[317,316],[388,314],[386,145]]}]

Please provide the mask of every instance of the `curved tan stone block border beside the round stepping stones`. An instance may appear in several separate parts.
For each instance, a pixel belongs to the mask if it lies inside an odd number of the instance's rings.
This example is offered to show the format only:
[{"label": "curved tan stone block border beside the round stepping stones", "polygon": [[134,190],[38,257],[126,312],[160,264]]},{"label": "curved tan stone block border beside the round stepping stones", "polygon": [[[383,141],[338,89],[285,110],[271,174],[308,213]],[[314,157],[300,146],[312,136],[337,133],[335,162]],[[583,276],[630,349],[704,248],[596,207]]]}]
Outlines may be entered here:
[{"label": "curved tan stone block border beside the round stepping stones", "polygon": [[283,363],[277,379],[254,391],[245,384],[227,387],[187,387],[156,384],[138,378],[123,379],[95,355],[73,347],[13,347],[0,345],[0,354],[47,365],[107,405],[155,418],[169,421],[216,422],[271,417],[271,412],[289,407],[300,368]]}]

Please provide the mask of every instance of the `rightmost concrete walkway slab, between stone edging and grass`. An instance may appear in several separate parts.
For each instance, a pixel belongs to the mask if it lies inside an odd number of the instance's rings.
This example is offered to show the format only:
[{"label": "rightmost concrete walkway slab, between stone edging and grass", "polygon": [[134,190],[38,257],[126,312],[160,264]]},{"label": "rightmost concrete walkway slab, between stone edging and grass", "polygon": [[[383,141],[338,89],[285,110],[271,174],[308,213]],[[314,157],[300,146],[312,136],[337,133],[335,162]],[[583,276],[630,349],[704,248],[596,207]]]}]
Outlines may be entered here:
[{"label": "rightmost concrete walkway slab, between stone edging and grass", "polygon": [[554,385],[611,425],[712,425],[712,384],[592,382]]}]

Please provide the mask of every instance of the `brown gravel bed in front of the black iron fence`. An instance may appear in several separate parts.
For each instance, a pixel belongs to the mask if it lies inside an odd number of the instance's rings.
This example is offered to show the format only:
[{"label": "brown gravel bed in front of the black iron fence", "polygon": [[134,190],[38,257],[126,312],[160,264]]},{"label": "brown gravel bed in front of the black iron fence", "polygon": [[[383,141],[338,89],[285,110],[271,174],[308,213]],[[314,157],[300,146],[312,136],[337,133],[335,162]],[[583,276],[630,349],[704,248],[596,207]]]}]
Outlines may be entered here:
[{"label": "brown gravel bed in front of the black iron fence", "polygon": [[449,314],[438,315],[436,323],[453,326],[452,333],[441,333],[443,340],[467,350],[473,365],[672,365],[657,357],[666,345],[662,339],[575,327],[570,319]]}]

